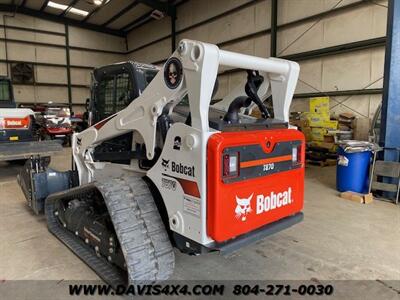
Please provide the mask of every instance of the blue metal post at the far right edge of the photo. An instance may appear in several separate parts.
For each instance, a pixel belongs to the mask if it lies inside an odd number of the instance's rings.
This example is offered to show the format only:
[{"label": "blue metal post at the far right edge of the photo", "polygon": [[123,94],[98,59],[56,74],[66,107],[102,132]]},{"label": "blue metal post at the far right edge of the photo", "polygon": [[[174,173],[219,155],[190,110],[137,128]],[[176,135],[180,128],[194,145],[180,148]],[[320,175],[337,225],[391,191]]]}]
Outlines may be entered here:
[{"label": "blue metal post at the far right edge of the photo", "polygon": [[389,0],[380,143],[385,161],[399,161],[400,147],[400,1]]}]

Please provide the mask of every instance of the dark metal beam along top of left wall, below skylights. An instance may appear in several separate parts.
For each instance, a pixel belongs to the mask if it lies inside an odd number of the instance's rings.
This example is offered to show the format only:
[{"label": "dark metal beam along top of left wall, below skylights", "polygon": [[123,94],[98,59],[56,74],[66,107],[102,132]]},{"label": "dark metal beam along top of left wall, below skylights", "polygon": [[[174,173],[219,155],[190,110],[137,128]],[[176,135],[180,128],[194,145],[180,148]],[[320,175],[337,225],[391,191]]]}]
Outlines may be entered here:
[{"label": "dark metal beam along top of left wall, below skylights", "polygon": [[104,28],[102,26],[90,24],[90,23],[82,23],[81,21],[78,21],[78,20],[73,20],[73,19],[69,19],[66,17],[60,17],[58,15],[52,15],[52,14],[49,14],[46,12],[34,10],[31,8],[27,8],[27,7],[19,7],[19,6],[15,6],[15,5],[9,5],[9,4],[0,4],[0,11],[8,11],[8,12],[15,11],[20,14],[46,19],[48,21],[52,21],[52,22],[56,22],[56,23],[69,24],[69,25],[84,28],[84,29],[89,29],[89,30],[107,33],[107,34],[111,34],[111,35],[125,37],[125,33],[123,33],[122,31],[119,31],[119,30]]}]

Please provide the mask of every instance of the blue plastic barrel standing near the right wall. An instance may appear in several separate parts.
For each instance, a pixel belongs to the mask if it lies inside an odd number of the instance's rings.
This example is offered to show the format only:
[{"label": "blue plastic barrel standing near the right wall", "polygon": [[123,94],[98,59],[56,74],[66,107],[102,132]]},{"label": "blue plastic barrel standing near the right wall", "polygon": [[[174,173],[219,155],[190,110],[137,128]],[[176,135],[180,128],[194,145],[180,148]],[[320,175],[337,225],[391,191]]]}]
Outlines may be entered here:
[{"label": "blue plastic barrel standing near the right wall", "polygon": [[367,193],[372,152],[348,153],[339,146],[338,155],[336,189],[339,192]]}]

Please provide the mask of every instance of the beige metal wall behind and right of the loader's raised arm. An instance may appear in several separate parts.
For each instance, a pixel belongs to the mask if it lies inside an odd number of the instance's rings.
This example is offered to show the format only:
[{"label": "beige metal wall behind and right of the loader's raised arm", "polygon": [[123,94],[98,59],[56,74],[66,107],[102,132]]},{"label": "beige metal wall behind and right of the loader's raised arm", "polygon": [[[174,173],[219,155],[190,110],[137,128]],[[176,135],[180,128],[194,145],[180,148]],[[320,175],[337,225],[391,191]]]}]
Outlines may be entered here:
[{"label": "beige metal wall behind and right of the loader's raised arm", "polygon": [[[278,0],[277,54],[288,56],[385,37],[385,6],[387,1],[378,0]],[[191,0],[177,9],[177,41],[197,39],[223,49],[268,57],[270,24],[271,0]],[[299,60],[301,74],[296,94],[382,88],[384,46],[364,48]],[[132,31],[128,49],[130,59],[162,62],[171,50],[169,18]],[[216,98],[234,88],[243,76],[236,72],[221,75]],[[359,116],[371,117],[380,101],[376,90],[371,95],[331,96],[333,111],[352,111]],[[292,110],[307,109],[307,98],[293,101]]]}]

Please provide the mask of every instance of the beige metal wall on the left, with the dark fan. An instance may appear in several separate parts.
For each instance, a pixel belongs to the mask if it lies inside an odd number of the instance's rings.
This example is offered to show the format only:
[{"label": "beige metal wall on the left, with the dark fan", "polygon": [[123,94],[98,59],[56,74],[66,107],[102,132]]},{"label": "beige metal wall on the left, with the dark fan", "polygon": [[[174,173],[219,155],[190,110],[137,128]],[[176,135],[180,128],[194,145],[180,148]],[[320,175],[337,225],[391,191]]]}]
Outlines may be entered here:
[{"label": "beige metal wall on the left, with the dark fan", "polygon": [[[0,24],[3,24],[0,13]],[[0,27],[0,75],[14,62],[34,64],[35,83],[14,85],[19,103],[68,103],[66,39],[64,24],[27,15],[6,17]],[[6,30],[6,32],[5,32]],[[95,66],[125,60],[125,39],[77,27],[69,27],[71,94],[74,111],[83,111],[89,97],[90,71]]]}]

